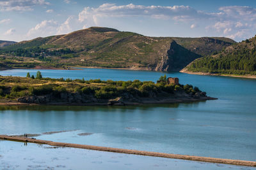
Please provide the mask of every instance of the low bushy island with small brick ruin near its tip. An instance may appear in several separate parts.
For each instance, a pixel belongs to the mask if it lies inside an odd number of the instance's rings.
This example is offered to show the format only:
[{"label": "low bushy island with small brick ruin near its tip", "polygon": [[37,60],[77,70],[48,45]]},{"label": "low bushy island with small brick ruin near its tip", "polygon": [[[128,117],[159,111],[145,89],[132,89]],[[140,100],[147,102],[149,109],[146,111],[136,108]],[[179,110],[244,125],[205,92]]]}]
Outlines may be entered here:
[{"label": "low bushy island with small brick ruin near its tip", "polygon": [[179,78],[153,81],[71,80],[36,76],[0,76],[1,105],[135,105],[182,103],[216,99]]}]

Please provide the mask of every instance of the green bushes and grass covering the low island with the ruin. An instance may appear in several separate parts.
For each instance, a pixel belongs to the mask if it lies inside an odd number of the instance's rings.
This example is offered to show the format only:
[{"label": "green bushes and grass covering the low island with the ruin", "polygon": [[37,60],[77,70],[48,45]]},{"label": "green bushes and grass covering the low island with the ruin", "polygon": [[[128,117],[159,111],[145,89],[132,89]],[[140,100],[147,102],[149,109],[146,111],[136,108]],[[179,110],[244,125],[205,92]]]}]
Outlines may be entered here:
[{"label": "green bushes and grass covering the low island with the ruin", "polygon": [[[31,76],[32,77],[32,76]],[[83,96],[84,99],[114,99],[124,97],[166,97],[177,92],[194,95],[201,92],[192,85],[173,85],[166,83],[166,76],[161,76],[157,83],[153,81],[112,81],[112,80],[71,80],[63,78],[43,78],[40,72],[36,78],[21,78],[12,76],[0,76],[0,97],[5,99],[17,99],[24,96],[51,96],[55,101],[63,96]],[[164,81],[162,81],[164,80]],[[19,85],[17,85],[19,83]],[[15,85],[16,84],[16,85]],[[131,97],[132,96],[132,97]]]}]

